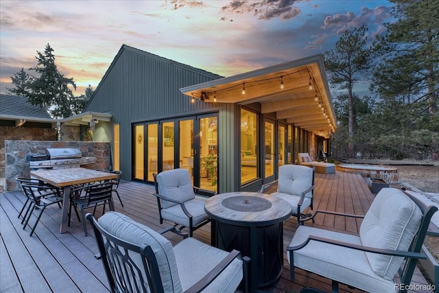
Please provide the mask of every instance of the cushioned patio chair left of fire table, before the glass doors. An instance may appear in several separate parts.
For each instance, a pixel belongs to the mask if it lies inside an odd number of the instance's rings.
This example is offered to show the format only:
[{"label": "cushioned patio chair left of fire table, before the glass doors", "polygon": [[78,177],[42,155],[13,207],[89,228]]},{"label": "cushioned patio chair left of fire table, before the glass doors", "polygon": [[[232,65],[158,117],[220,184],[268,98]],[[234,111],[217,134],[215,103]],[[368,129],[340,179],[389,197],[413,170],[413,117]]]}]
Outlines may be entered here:
[{"label": "cushioned patio chair left of fire table, before the glass doors", "polygon": [[204,201],[215,196],[215,192],[193,187],[187,169],[173,169],[153,176],[160,224],[164,220],[174,224],[169,231],[187,237],[187,233],[182,233],[187,227],[192,237],[193,231],[211,221],[204,211]]}]

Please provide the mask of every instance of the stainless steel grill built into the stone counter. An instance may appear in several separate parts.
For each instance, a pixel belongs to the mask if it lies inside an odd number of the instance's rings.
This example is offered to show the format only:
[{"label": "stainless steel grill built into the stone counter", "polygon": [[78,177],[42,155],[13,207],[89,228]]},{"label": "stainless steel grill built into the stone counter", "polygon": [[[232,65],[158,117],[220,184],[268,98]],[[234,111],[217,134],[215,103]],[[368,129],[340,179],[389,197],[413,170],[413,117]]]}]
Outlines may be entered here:
[{"label": "stainless steel grill built into the stone counter", "polygon": [[26,156],[31,169],[71,168],[96,162],[94,156],[82,156],[78,148],[47,148],[45,154]]}]

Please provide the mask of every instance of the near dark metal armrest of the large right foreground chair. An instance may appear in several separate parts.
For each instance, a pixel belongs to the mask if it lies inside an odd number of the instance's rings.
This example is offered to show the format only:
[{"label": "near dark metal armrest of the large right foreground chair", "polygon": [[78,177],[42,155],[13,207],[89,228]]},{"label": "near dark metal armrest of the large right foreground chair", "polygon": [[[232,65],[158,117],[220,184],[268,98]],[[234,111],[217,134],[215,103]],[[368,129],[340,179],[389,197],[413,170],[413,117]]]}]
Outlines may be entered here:
[{"label": "near dark metal armrest of the large right foreground chair", "polygon": [[367,253],[378,253],[380,255],[394,255],[396,257],[410,257],[410,258],[414,258],[414,259],[426,259],[427,258],[423,253],[412,253],[411,251],[404,251],[404,250],[390,250],[390,249],[381,249],[381,248],[375,248],[375,247],[370,247],[370,246],[362,246],[362,245],[358,245],[358,244],[337,241],[334,239],[324,238],[324,237],[315,236],[315,235],[309,235],[308,239],[306,239],[305,242],[303,242],[302,244],[299,244],[296,246],[288,246],[287,251],[294,251],[294,250],[298,250],[300,248],[303,248],[303,247],[307,246],[307,244],[311,240],[318,241],[318,242],[324,242],[327,244],[333,244],[336,246],[342,246],[342,247],[346,247],[346,248],[361,250],[361,251],[365,251]]}]

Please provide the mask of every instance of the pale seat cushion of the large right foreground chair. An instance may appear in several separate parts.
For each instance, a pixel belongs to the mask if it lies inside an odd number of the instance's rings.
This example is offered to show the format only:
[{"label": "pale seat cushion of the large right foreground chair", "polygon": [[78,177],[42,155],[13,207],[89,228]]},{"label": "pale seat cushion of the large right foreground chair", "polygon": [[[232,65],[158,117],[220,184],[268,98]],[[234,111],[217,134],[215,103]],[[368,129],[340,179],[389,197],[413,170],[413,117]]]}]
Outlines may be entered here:
[{"label": "pale seat cushion of the large right foreground chair", "polygon": [[[309,235],[361,245],[356,235],[301,225],[294,233],[290,246],[302,244]],[[291,262],[289,252],[287,257],[288,262]],[[370,268],[366,253],[360,250],[310,241],[304,248],[294,251],[294,266],[340,283],[355,285],[367,292],[394,292],[394,281],[375,274]]]}]

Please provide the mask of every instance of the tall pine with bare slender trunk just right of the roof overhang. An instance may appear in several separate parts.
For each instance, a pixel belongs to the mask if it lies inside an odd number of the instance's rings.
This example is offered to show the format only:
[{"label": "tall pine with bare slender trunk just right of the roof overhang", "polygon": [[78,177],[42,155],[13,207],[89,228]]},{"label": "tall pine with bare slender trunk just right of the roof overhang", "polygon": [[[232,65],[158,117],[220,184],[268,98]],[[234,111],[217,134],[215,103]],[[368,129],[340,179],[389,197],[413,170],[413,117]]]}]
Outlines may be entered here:
[{"label": "tall pine with bare slender trunk just right of the roof overhang", "polygon": [[366,76],[372,61],[371,50],[366,47],[366,27],[348,30],[335,43],[335,49],[324,53],[329,82],[338,89],[347,90],[348,99],[348,157],[353,157],[354,106],[353,86],[359,76]]}]

